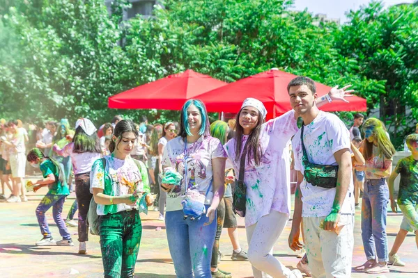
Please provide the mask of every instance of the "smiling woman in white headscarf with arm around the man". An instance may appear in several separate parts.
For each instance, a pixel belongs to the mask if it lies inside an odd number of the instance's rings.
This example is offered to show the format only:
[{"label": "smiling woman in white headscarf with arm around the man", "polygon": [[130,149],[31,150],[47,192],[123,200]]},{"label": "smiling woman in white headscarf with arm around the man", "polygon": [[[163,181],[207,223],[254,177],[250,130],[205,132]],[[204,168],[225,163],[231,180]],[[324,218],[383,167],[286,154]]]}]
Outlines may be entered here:
[{"label": "smiling woman in white headscarf with arm around the man", "polygon": [[[344,90],[333,88],[329,96],[318,99],[317,106],[327,99],[343,99]],[[226,143],[226,152],[240,172],[245,150],[244,183],[247,188],[245,227],[249,245],[248,259],[254,278],[302,277],[299,270],[290,270],[272,255],[274,243],[284,230],[290,208],[290,155],[288,145],[297,132],[295,111],[288,111],[265,122],[267,111],[261,101],[248,98],[236,116],[235,137]]]}]

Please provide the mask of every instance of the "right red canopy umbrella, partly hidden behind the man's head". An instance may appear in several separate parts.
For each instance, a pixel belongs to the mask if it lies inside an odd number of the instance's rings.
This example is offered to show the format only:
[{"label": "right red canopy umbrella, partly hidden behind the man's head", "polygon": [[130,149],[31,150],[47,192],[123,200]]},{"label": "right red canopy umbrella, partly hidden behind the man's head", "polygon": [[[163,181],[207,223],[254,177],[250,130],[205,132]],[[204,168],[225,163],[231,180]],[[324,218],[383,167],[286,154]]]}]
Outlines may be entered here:
[{"label": "right red canopy umbrella, partly hidden behind the man's head", "polygon": [[[205,92],[197,98],[206,104],[210,112],[238,113],[242,101],[247,97],[254,97],[263,102],[268,111],[267,118],[271,119],[291,110],[287,85],[295,77],[294,74],[272,69]],[[325,95],[330,89],[331,87],[316,82],[319,96]],[[350,103],[332,101],[332,104],[325,104],[320,109],[323,111],[366,111],[366,99],[353,96],[348,101]]]}]

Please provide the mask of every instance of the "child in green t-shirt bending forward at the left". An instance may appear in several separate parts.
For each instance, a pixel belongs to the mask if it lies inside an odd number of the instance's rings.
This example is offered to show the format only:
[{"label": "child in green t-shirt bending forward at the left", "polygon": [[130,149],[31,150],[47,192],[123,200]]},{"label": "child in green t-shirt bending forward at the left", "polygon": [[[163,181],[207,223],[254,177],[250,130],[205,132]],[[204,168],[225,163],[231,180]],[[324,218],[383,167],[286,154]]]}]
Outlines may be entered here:
[{"label": "child in green t-shirt bending forward at the left", "polygon": [[[27,155],[27,160],[33,167],[40,167],[40,171],[44,177],[44,179],[40,179],[36,181],[36,183],[33,183],[33,191],[36,192],[43,186],[48,186],[49,188],[47,195],[43,197],[42,201],[40,201],[40,204],[36,208],[36,217],[38,218],[40,232],[43,236],[43,238],[39,240],[36,245],[73,246],[74,243],[72,243],[71,235],[68,232],[67,227],[65,227],[65,222],[61,216],[65,197],[70,194],[63,170],[51,158],[45,157],[38,148],[31,149],[31,152]],[[51,208],[51,206],[56,227],[58,227],[59,234],[63,237],[62,240],[57,242],[55,242],[51,236],[47,217],[45,216],[45,213],[49,210],[49,208]]]}]

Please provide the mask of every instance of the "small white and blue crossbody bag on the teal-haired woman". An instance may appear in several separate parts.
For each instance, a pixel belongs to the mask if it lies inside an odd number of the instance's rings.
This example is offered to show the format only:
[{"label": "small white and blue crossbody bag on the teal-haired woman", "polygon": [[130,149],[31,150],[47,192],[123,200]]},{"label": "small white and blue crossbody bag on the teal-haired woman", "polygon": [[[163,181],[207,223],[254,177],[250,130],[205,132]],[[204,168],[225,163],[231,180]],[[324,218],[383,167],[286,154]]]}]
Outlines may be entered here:
[{"label": "small white and blue crossbody bag on the teal-haired woman", "polygon": [[193,189],[188,190],[188,182],[187,182],[187,139],[185,138],[185,151],[184,151],[184,165],[185,165],[185,197],[181,204],[183,205],[183,219],[186,220],[189,218],[190,220],[199,220],[203,213],[206,213],[206,206],[205,200],[206,196],[209,193],[210,188],[212,187],[212,181],[210,181],[210,185],[208,190],[206,190],[206,194],[202,195],[199,190]]}]

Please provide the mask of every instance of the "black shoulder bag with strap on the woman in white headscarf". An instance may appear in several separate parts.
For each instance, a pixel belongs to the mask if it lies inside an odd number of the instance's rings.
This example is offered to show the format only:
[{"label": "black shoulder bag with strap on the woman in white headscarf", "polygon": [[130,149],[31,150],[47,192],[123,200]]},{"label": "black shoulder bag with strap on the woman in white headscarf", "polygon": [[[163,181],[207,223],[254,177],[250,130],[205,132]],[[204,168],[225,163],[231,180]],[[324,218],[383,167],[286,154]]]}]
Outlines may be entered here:
[{"label": "black shoulder bag with strap on the woman in white headscarf", "polygon": [[[248,140],[247,140],[248,142]],[[233,191],[232,209],[235,214],[245,217],[245,205],[247,203],[247,186],[244,183],[245,172],[245,158],[247,156],[247,142],[245,142],[244,150],[240,159],[240,172],[238,174],[238,181]]]}]

